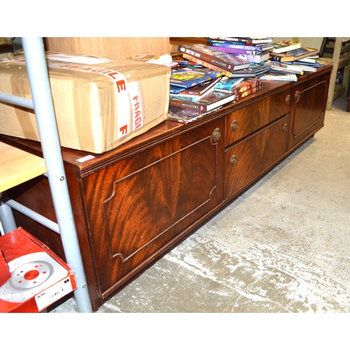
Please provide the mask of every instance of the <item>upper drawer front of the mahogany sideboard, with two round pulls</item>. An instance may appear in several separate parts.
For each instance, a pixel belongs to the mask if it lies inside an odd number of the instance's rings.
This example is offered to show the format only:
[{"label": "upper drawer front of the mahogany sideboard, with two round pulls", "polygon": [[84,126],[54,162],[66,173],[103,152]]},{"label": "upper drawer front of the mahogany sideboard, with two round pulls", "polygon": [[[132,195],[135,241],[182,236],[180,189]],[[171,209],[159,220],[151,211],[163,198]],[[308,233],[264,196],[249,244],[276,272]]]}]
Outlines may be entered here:
[{"label": "upper drawer front of the mahogany sideboard, with two round pulls", "polygon": [[226,119],[225,146],[289,113],[290,96],[288,89],[230,113]]}]

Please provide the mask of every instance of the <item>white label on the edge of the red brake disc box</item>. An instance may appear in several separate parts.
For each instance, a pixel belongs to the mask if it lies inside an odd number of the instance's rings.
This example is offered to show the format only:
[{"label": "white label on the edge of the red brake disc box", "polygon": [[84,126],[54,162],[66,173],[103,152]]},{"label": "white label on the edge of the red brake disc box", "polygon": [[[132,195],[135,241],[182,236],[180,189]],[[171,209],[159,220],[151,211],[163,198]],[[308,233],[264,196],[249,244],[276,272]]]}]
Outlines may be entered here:
[{"label": "white label on the edge of the red brake disc box", "polygon": [[48,307],[50,304],[57,302],[57,300],[64,297],[64,295],[71,293],[71,291],[73,291],[73,288],[71,286],[71,279],[69,276],[66,276],[61,281],[55,283],[53,286],[50,286],[35,296],[38,311],[41,311]]}]

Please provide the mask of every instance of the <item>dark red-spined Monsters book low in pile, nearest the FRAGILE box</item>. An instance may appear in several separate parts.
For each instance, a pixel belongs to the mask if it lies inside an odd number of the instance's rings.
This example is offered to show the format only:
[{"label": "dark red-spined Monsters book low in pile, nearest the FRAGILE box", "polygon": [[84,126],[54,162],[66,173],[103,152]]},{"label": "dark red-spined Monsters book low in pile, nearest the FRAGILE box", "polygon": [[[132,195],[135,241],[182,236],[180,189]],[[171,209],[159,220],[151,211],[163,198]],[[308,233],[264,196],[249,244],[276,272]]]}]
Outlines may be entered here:
[{"label": "dark red-spined Monsters book low in pile, nearest the FRAGILE box", "polygon": [[209,112],[219,106],[233,102],[236,95],[230,91],[213,90],[202,99],[196,102],[180,101],[179,99],[170,99],[169,106],[181,107],[183,109],[194,109],[196,111]]}]

